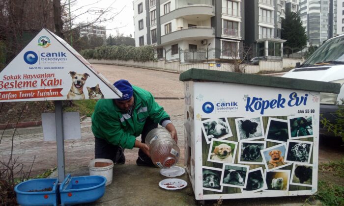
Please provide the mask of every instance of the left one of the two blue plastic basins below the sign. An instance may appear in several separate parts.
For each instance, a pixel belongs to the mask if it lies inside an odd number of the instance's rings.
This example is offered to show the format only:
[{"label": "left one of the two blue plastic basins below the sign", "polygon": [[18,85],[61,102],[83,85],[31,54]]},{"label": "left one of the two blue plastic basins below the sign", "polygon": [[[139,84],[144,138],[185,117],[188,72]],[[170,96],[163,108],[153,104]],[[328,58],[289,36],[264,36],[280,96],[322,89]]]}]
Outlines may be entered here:
[{"label": "left one of the two blue plastic basins below the sign", "polygon": [[[17,202],[22,206],[57,206],[57,179],[35,179],[23,181],[14,187],[17,194]],[[52,188],[52,191],[39,191],[47,188]]]}]

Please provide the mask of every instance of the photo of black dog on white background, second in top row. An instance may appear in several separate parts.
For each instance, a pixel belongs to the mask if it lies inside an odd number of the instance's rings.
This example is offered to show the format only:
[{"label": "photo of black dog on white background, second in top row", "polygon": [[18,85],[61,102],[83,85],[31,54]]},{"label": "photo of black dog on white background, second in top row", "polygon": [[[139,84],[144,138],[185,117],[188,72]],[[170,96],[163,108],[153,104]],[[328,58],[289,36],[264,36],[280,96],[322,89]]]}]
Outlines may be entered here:
[{"label": "photo of black dog on white background, second in top row", "polygon": [[264,138],[262,122],[261,117],[235,119],[235,127],[239,141]]}]

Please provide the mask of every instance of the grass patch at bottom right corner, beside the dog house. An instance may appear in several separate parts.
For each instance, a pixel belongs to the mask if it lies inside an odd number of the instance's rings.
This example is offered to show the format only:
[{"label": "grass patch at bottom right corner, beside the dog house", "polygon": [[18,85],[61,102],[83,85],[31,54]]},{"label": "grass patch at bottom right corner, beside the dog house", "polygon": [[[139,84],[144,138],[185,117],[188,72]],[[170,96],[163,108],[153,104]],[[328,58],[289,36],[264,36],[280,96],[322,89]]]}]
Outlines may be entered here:
[{"label": "grass patch at bottom right corner, beside the dog house", "polygon": [[343,206],[344,205],[344,187],[328,183],[325,181],[318,181],[318,192],[316,197],[327,206]]}]

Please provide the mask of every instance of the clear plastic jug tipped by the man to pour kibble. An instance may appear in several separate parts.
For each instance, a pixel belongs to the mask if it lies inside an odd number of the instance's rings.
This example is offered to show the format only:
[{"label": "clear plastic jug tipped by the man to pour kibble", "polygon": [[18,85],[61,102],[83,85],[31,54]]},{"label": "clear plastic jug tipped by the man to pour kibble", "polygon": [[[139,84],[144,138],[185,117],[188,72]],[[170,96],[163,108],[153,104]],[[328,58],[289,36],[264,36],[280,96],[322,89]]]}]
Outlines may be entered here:
[{"label": "clear plastic jug tipped by the man to pour kibble", "polygon": [[179,160],[180,149],[165,128],[156,128],[148,132],[146,144],[153,163],[160,168],[170,168]]}]

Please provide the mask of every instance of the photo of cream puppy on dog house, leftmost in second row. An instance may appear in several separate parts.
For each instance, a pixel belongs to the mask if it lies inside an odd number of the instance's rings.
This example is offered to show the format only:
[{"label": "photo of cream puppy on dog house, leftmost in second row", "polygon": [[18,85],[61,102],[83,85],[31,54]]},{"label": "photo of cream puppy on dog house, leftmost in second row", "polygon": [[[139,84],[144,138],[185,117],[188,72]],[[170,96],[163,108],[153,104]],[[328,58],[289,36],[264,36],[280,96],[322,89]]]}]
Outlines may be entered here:
[{"label": "photo of cream puppy on dog house, leftmost in second row", "polygon": [[237,144],[237,142],[223,139],[211,139],[208,161],[233,163]]}]

